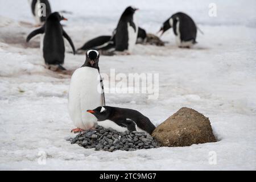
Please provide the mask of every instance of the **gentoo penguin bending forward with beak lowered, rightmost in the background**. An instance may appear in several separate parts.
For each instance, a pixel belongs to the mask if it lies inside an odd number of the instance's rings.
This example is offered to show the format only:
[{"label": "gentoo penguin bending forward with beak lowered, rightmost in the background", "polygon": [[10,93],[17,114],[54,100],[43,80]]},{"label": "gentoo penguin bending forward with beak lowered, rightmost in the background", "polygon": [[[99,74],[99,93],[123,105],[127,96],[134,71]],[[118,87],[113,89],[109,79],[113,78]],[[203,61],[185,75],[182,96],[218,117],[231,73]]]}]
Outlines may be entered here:
[{"label": "gentoo penguin bending forward with beak lowered, rightmost in the background", "polygon": [[196,43],[197,27],[192,18],[187,14],[179,12],[172,15],[163,23],[159,32],[162,31],[161,35],[163,35],[171,27],[173,27],[176,36],[177,46],[189,48]]}]

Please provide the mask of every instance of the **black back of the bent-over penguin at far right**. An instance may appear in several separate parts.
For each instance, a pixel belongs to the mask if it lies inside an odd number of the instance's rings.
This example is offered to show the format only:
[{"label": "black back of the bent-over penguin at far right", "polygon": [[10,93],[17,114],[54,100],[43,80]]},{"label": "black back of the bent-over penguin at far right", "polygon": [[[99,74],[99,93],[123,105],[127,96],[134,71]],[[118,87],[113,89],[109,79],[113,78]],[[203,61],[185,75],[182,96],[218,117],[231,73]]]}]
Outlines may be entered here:
[{"label": "black back of the bent-over penguin at far right", "polygon": [[176,18],[179,18],[179,31],[180,31],[180,39],[183,41],[193,40],[196,41],[196,33],[197,27],[193,19],[185,13],[176,13],[171,16],[174,19],[174,34],[177,35],[176,32]]}]

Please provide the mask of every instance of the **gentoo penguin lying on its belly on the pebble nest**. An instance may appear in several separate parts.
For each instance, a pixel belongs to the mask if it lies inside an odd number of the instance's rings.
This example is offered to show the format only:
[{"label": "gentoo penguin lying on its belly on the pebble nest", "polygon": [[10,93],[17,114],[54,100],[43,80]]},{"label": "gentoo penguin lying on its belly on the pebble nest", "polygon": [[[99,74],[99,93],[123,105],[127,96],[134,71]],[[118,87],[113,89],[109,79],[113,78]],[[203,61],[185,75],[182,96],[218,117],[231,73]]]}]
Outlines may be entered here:
[{"label": "gentoo penguin lying on its belly on the pebble nest", "polygon": [[87,111],[97,118],[98,125],[112,127],[119,132],[129,130],[144,131],[151,134],[155,130],[155,126],[150,119],[137,110],[99,106],[96,109]]}]

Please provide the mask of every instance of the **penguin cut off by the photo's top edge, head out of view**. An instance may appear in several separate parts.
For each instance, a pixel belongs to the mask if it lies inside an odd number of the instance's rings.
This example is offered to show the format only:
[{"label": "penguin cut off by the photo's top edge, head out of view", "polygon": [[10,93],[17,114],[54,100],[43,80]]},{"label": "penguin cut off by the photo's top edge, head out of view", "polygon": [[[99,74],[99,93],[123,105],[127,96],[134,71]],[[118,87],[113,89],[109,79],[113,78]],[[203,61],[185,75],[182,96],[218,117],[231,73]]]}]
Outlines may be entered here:
[{"label": "penguin cut off by the photo's top edge, head out of view", "polygon": [[[28,0],[28,2],[31,5],[31,11],[36,20],[36,23],[38,25],[42,25],[46,21],[49,14],[51,14],[51,6],[49,4],[49,1],[48,0]],[[43,4],[43,6],[41,3]],[[43,10],[44,7],[46,8],[45,10]],[[43,13],[45,13],[45,16]]]}]

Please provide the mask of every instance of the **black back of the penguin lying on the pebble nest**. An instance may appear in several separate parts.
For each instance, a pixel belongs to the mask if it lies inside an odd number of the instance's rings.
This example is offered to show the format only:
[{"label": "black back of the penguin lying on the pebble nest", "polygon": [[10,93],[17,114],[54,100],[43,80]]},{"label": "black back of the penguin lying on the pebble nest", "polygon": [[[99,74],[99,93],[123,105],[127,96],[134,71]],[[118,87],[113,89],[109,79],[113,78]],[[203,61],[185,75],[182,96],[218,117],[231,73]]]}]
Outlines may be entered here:
[{"label": "black back of the penguin lying on the pebble nest", "polygon": [[110,107],[104,106],[106,110],[110,111],[109,120],[114,121],[118,125],[121,125],[121,122],[126,121],[126,119],[131,119],[134,121],[139,128],[147,133],[151,134],[155,130],[155,126],[151,123],[150,119],[141,114],[137,110],[125,109],[120,107]]}]

